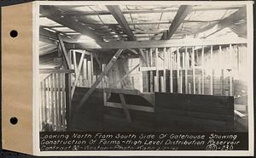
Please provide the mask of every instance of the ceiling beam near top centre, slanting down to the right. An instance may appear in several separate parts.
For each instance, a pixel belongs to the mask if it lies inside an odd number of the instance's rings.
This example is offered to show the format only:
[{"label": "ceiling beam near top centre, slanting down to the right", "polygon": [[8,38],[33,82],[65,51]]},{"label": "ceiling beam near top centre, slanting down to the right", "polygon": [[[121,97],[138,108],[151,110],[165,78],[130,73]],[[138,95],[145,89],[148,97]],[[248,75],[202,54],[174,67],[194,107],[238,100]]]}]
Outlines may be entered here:
[{"label": "ceiling beam near top centre, slanting down to the right", "polygon": [[131,31],[128,22],[125,20],[125,16],[122,13],[122,10],[119,8],[119,6],[107,5],[106,7],[108,8],[109,12],[113,15],[114,19],[118,21],[119,25],[121,25],[123,31],[125,32],[125,34],[127,34],[128,39],[130,41],[136,41],[136,37],[134,37],[134,34]]}]

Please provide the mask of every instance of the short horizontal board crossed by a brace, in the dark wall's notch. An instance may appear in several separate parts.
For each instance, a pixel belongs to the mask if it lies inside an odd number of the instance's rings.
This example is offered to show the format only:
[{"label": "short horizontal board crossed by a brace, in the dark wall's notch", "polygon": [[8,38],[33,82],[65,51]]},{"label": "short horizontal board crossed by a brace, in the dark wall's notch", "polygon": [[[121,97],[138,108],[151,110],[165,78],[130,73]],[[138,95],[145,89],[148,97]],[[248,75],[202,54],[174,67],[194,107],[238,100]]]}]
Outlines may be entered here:
[{"label": "short horizontal board crossed by a brace, in the dark wall's notch", "polygon": [[[153,107],[148,107],[148,106],[141,106],[141,105],[136,105],[136,104],[126,104],[127,108],[129,110],[139,110],[139,111],[144,111],[144,112],[154,112]],[[119,103],[113,103],[113,102],[107,102],[105,106],[112,107],[112,108],[123,108],[122,104]]]}]

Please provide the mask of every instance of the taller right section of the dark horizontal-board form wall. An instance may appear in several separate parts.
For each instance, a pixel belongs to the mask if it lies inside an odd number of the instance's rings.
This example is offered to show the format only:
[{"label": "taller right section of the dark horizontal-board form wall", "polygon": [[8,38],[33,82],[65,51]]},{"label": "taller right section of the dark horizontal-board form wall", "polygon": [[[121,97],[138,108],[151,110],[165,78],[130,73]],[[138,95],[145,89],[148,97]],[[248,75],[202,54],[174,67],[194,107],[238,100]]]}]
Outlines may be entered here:
[{"label": "taller right section of the dark horizontal-board form wall", "polygon": [[[172,130],[177,131],[234,130],[233,97],[155,93],[155,104],[156,116],[162,128],[170,126]],[[175,124],[177,127],[172,127]]]}]

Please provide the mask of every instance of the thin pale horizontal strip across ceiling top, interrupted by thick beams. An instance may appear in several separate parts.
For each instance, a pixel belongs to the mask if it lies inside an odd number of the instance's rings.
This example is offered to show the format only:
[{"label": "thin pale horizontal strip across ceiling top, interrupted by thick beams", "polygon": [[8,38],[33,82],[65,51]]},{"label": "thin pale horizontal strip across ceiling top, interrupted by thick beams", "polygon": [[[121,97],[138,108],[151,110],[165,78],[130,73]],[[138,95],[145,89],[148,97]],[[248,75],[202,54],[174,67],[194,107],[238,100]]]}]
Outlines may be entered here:
[{"label": "thin pale horizontal strip across ceiling top, interrupted by thick beams", "polygon": [[[241,6],[232,6],[232,7],[202,7],[202,8],[193,8],[192,11],[216,11],[216,10],[230,10],[230,9],[239,9]],[[126,10],[123,11],[123,14],[152,14],[152,13],[172,13],[177,12],[178,9],[152,9],[152,10]],[[93,12],[72,12],[65,13],[71,16],[84,16],[84,15],[104,15],[110,14],[108,11],[93,11]],[[44,17],[44,15],[40,15],[40,17]]]}]

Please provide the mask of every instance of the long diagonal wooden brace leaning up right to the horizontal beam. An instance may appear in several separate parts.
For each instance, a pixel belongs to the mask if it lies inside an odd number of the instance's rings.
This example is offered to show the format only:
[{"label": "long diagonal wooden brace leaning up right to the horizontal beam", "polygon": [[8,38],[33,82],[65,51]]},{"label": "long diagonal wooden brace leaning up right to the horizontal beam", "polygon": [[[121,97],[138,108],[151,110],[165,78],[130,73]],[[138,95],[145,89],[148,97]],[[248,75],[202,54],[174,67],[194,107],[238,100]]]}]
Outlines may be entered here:
[{"label": "long diagonal wooden brace leaning up right to the horizontal beam", "polygon": [[83,99],[79,102],[76,110],[79,110],[80,107],[83,106],[83,104],[86,102],[86,100],[89,98],[90,94],[93,93],[93,91],[96,89],[97,85],[102,81],[103,76],[106,76],[108,74],[108,71],[112,68],[113,64],[116,62],[116,60],[119,58],[119,55],[123,52],[123,49],[119,49],[116,54],[113,55],[113,58],[109,61],[108,65],[106,66],[106,69],[102,71],[102,74],[97,78],[96,82],[90,87],[89,91],[85,93]]}]

